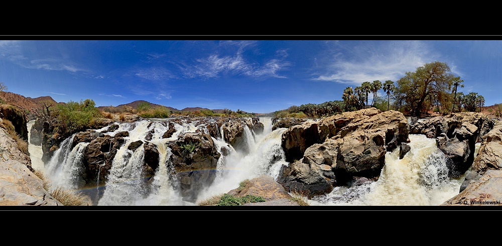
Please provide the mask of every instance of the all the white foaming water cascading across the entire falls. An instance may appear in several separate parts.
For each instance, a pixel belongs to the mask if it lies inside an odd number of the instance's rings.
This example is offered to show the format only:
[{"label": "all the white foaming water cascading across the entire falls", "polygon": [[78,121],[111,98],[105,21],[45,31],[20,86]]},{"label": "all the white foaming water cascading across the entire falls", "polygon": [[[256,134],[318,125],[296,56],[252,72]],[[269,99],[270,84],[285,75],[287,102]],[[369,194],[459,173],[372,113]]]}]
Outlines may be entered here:
[{"label": "all the white foaming water cascading across the entire falls", "polygon": [[[96,206],[195,206],[214,195],[227,193],[239,186],[245,179],[252,179],[262,174],[277,178],[285,161],[281,148],[281,136],[287,129],[272,131],[272,119],[261,117],[264,124],[262,134],[254,134],[245,127],[245,144],[250,150],[242,154],[231,148],[230,155],[218,159],[216,179],[211,186],[200,192],[197,202],[183,201],[176,187],[169,181],[167,162],[171,155],[167,142],[176,140],[184,132],[205,131],[204,125],[195,127],[193,122],[175,124],[176,133],[171,138],[163,139],[162,134],[168,129],[162,121],[170,119],[149,119],[133,123],[117,122],[119,128],[105,134],[113,136],[121,131],[129,131],[124,137],[126,143],[118,150],[112,162],[108,181],[104,187],[94,190],[79,190],[76,183],[77,170],[80,168],[83,151],[88,143],[79,143],[71,149],[73,136],[66,139],[55,152],[52,159],[42,162],[42,148],[29,143],[32,167],[43,171],[52,181],[52,186],[61,186],[75,192],[82,192],[93,199]],[[153,122],[153,123],[152,123]],[[152,124],[151,124],[152,123]],[[34,120],[28,122],[28,130]],[[100,132],[108,127],[98,129]],[[142,187],[141,166],[144,149],[128,150],[130,143],[145,140],[145,136],[155,129],[151,143],[157,146],[162,165],[156,170],[152,187],[148,194]],[[229,146],[222,138],[212,139],[218,151],[222,146]],[[410,135],[411,151],[399,160],[399,149],[388,152],[386,164],[378,181],[368,181],[355,187],[335,187],[326,195],[308,200],[311,206],[435,206],[457,195],[463,176],[448,178],[446,160],[436,147],[434,139],[423,135]],[[29,141],[30,142],[30,141]],[[476,144],[476,152],[479,144]]]}]

